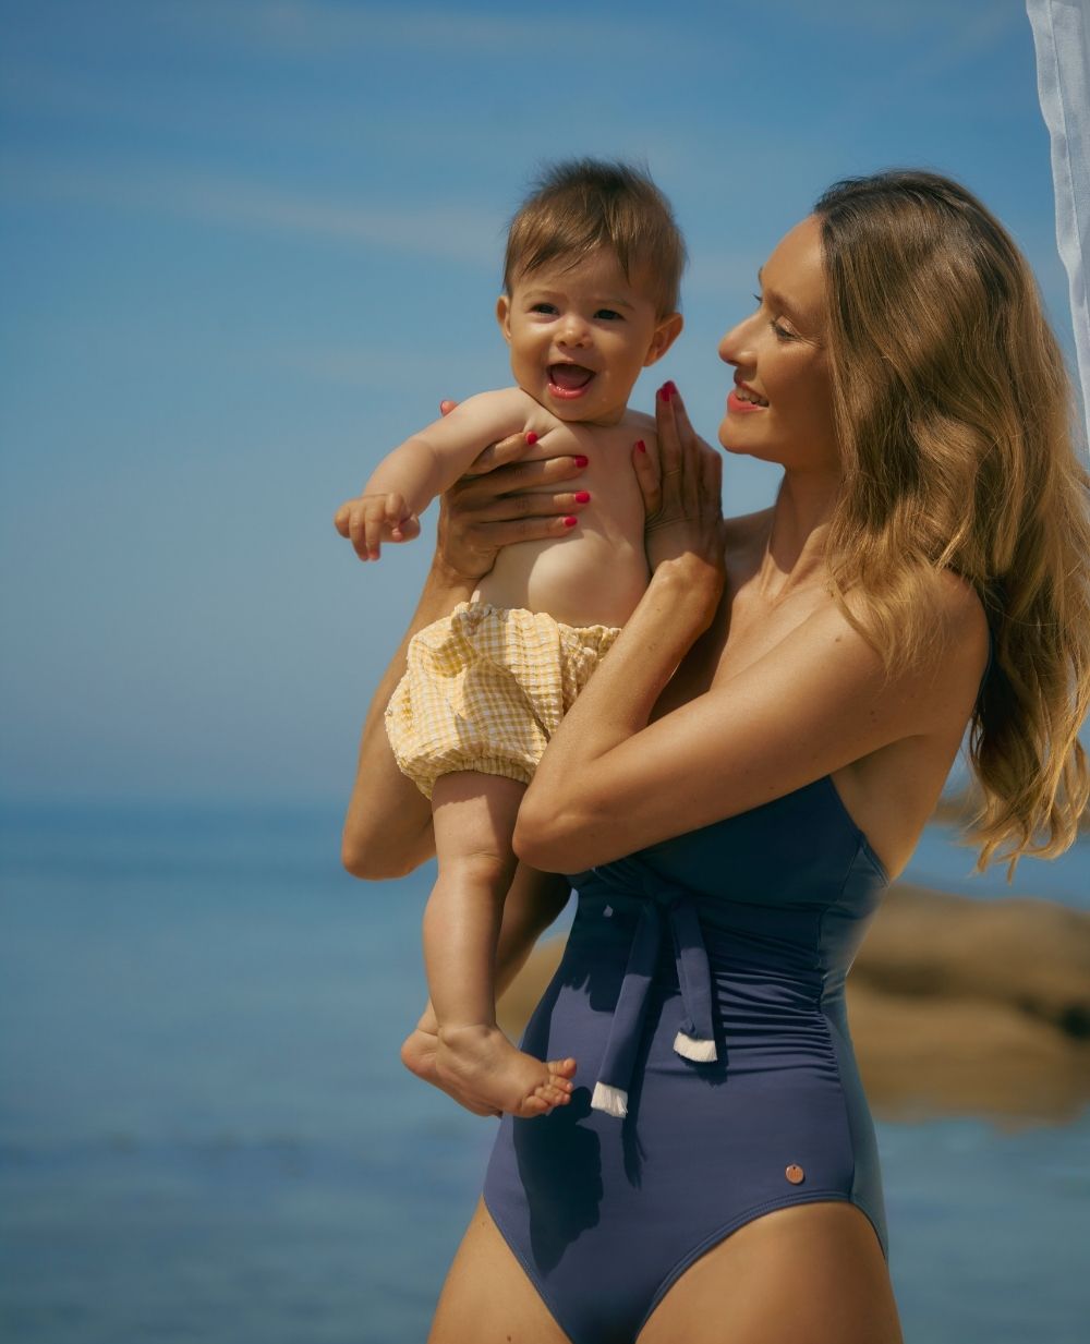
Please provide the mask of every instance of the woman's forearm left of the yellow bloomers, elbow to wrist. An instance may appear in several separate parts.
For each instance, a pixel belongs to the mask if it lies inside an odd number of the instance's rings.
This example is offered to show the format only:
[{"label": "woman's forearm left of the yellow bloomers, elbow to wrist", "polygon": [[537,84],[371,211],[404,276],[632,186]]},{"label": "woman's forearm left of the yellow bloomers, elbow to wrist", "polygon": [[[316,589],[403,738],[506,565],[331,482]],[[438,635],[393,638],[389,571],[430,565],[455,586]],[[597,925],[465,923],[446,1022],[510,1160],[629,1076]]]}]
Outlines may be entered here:
[{"label": "woman's forearm left of the yellow bloomers, elbow to wrist", "polygon": [[398,769],[386,737],[384,715],[405,675],[409,641],[426,625],[448,616],[472,591],[472,579],[445,569],[439,558],[433,562],[409,629],[371,699],[341,836],[341,862],[358,878],[401,878],[435,852],[431,808]]}]

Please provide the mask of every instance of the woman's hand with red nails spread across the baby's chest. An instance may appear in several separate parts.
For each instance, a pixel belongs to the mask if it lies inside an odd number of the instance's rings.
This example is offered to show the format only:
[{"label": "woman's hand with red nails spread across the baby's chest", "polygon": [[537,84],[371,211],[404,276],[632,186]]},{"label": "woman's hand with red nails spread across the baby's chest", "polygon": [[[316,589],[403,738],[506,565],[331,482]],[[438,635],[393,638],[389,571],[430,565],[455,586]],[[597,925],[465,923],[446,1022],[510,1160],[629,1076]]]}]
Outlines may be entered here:
[{"label": "woman's hand with red nails spread across the baby's chest", "polygon": [[[454,402],[444,402],[444,414]],[[521,461],[536,435],[512,434],[489,445],[439,500],[435,560],[452,577],[474,582],[492,569],[504,546],[563,536],[586,507],[558,489],[579,476],[586,458]]]}]

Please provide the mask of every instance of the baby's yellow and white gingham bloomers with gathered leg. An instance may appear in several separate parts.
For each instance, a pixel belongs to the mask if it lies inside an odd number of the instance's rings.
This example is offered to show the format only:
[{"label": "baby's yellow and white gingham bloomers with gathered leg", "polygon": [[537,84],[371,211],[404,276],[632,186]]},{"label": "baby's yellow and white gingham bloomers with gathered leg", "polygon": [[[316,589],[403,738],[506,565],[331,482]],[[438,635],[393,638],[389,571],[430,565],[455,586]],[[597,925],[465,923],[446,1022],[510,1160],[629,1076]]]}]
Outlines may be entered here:
[{"label": "baby's yellow and white gingham bloomers with gathered leg", "polygon": [[550,737],[621,632],[544,612],[460,602],[409,644],[386,710],[401,770],[425,797],[441,774],[530,784]]}]

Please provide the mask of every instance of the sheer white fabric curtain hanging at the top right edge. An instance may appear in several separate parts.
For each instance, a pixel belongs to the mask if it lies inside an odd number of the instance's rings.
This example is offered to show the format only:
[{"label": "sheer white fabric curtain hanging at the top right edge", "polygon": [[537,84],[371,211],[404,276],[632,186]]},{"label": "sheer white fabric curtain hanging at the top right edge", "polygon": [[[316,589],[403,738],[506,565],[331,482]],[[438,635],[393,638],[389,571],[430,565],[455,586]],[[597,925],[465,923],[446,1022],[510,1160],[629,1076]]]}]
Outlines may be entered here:
[{"label": "sheer white fabric curtain hanging at the top right edge", "polygon": [[1038,54],[1038,97],[1052,141],[1056,243],[1067,269],[1071,321],[1090,442],[1090,0],[1025,0]]}]

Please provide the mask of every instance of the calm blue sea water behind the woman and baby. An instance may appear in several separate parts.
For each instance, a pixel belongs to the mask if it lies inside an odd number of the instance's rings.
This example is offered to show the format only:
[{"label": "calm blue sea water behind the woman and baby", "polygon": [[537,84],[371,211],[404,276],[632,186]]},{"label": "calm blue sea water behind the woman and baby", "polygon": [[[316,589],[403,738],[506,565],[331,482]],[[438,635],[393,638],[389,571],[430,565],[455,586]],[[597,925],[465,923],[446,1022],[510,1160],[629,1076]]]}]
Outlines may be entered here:
[{"label": "calm blue sea water behind the woman and baby", "polygon": [[[22,810],[0,896],[0,1337],[415,1344],[493,1122],[403,1074],[427,875],[329,810]],[[1090,907],[1086,844],[1016,890]],[[909,874],[993,899],[930,835]],[[880,1125],[909,1344],[1085,1344],[1090,1116]]]}]

